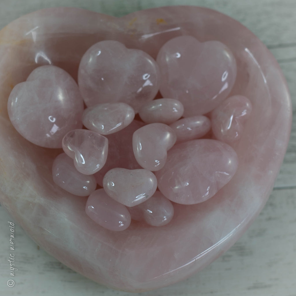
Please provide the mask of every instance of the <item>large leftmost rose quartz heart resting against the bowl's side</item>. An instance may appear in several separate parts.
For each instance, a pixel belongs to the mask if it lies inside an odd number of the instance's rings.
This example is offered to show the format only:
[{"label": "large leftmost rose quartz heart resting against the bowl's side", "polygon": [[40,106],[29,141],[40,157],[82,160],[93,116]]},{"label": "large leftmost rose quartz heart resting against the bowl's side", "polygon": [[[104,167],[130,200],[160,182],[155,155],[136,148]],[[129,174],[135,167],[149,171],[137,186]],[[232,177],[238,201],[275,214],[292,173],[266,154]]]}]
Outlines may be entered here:
[{"label": "large leftmost rose quartz heart resting against the bowl's side", "polygon": [[68,131],[82,128],[83,100],[74,79],[63,69],[41,66],[9,95],[9,119],[33,144],[62,148]]}]

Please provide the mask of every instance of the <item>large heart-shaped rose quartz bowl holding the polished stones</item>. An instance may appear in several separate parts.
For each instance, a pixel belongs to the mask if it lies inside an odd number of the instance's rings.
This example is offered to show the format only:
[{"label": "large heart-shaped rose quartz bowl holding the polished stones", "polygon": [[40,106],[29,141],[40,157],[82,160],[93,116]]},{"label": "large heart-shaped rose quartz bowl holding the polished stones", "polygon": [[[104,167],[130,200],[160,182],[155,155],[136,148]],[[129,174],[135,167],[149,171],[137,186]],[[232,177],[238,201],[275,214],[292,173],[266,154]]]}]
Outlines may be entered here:
[{"label": "large heart-shaped rose quartz bowl holding the polished stones", "polygon": [[[229,95],[244,95],[253,107],[244,135],[233,145],[239,167],[209,200],[174,204],[174,217],[165,226],[132,221],[125,231],[108,231],[86,215],[85,197],[65,193],[52,181],[52,163],[61,149],[37,147],[13,128],[6,111],[9,93],[44,64],[77,79],[82,55],[98,41],[118,40],[156,58],[165,42],[180,35],[221,41],[236,58],[237,79]],[[264,206],[287,148],[291,101],[275,58],[237,21],[186,6],[120,19],[52,8],[9,24],[0,32],[0,44],[1,204],[38,245],[70,268],[125,291],[167,286],[223,254]]]}]

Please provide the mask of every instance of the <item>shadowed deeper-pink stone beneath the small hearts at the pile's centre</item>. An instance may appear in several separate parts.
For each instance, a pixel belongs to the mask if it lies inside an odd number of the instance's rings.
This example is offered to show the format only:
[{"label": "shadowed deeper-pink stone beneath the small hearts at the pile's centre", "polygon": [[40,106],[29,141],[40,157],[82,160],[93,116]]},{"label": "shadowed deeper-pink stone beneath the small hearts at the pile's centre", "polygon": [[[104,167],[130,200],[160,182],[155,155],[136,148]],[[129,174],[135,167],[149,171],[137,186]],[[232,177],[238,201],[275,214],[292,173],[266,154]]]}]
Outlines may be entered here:
[{"label": "shadowed deeper-pink stone beneath the small hearts at the pile's centre", "polygon": [[108,139],[108,156],[107,161],[97,173],[95,173],[96,181],[100,186],[103,186],[103,178],[107,171],[112,168],[127,168],[134,170],[141,168],[133,154],[133,133],[144,126],[144,123],[138,120],[124,128],[119,133],[107,135]]}]

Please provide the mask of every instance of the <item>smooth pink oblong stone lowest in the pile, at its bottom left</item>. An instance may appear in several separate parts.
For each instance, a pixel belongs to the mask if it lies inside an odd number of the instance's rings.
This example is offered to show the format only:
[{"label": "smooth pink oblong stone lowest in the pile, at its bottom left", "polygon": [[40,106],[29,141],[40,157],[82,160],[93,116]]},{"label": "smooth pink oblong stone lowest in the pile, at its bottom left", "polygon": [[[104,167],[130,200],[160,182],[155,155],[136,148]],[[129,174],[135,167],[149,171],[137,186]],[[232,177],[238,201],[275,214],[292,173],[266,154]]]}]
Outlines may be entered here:
[{"label": "smooth pink oblong stone lowest in the pile, at its bottom left", "polygon": [[100,226],[112,231],[125,230],[131,224],[126,206],[112,200],[104,189],[98,189],[89,196],[85,211]]}]

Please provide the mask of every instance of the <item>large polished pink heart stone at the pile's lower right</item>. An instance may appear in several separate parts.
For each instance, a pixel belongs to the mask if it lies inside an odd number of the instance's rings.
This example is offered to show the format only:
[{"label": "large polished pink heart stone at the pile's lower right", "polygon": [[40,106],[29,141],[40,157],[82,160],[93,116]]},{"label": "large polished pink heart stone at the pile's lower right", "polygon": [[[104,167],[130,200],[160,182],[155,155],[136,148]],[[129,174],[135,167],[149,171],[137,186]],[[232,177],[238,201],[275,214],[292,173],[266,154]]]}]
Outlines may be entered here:
[{"label": "large polished pink heart stone at the pile's lower right", "polygon": [[173,202],[197,204],[211,198],[234,176],[238,157],[221,141],[198,139],[177,144],[155,173],[158,189]]}]

